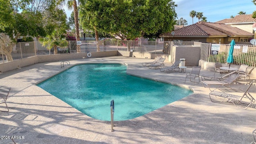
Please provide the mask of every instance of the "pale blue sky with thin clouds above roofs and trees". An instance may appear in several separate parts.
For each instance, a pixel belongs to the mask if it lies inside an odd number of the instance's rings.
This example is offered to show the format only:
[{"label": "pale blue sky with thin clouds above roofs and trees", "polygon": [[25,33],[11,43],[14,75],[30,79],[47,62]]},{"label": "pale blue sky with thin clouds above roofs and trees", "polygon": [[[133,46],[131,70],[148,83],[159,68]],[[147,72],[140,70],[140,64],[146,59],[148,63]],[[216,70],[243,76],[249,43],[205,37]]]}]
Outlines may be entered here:
[{"label": "pale blue sky with thin clouds above roofs and trees", "polygon": [[[192,24],[192,18],[189,16],[190,11],[203,12],[203,16],[207,22],[217,22],[236,16],[240,11],[246,14],[252,14],[256,10],[256,5],[252,0],[173,0],[178,6],[175,7],[177,20],[183,18],[187,20],[188,25]],[[70,17],[72,11],[66,6],[64,10],[67,17]],[[194,17],[194,23],[198,22],[198,18]]]}]

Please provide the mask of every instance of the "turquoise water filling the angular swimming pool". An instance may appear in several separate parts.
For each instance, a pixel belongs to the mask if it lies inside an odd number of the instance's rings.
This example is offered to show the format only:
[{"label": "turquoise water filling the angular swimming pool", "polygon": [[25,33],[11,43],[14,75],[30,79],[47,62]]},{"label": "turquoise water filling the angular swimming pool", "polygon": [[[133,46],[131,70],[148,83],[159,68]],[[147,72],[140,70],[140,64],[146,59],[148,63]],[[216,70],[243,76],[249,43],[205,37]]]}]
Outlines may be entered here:
[{"label": "turquoise water filling the angular swimming pool", "polygon": [[39,84],[40,88],[84,114],[110,121],[142,116],[192,94],[191,90],[126,74],[123,64],[80,64]]}]

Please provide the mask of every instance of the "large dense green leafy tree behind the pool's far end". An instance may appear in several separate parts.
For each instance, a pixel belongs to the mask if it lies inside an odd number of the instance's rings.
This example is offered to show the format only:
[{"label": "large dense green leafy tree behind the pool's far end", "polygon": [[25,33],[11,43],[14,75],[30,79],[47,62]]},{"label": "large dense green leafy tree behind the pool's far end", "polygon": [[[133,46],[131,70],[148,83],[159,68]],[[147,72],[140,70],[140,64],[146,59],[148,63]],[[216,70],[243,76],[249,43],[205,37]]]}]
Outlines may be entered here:
[{"label": "large dense green leafy tree behind the pool's far end", "polygon": [[83,28],[122,40],[158,37],[174,29],[177,14],[172,0],[88,0],[80,11]]}]

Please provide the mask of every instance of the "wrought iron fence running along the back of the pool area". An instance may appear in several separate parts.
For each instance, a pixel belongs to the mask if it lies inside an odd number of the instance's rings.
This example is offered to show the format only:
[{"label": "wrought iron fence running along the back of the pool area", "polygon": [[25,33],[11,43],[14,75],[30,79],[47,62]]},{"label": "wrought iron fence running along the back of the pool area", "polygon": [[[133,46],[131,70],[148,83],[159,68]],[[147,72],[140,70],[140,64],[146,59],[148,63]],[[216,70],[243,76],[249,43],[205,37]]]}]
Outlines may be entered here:
[{"label": "wrought iron fence running along the back of the pool area", "polygon": [[[144,52],[152,54],[170,55],[173,45],[196,45],[201,47],[201,60],[207,62],[220,62],[226,64],[228,57],[229,44],[219,44],[218,52],[212,51],[212,44],[201,42],[170,42],[170,41],[141,41],[141,40],[82,40],[68,41],[68,44],[48,49],[41,42],[19,42],[11,44],[0,44],[0,63],[12,60],[19,60],[31,56],[77,53],[78,47],[81,53],[98,51],[125,51],[125,52]],[[234,62],[232,64],[256,66],[256,46],[254,45],[235,45]]]}]

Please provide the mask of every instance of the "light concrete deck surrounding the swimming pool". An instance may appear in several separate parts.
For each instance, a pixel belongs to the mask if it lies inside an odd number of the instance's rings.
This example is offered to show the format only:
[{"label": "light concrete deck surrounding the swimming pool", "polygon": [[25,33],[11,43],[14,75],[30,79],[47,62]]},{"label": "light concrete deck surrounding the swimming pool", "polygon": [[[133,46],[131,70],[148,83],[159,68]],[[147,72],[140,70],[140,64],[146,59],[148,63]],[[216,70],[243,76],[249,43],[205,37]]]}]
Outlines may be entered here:
[{"label": "light concrete deck surrounding the swimming pool", "polygon": [[[254,141],[256,109],[236,108],[233,104],[210,101],[208,88],[201,83],[184,84],[186,73],[160,72],[142,66],[150,59],[123,56],[44,62],[0,74],[1,86],[12,87],[7,104],[0,112],[0,136],[23,136],[16,144],[250,144]],[[52,96],[35,84],[65,68],[85,62],[128,64],[127,73],[191,88],[194,93],[144,116],[110,122],[95,120]],[[171,63],[165,61],[166,66]],[[191,67],[186,72],[191,71]],[[202,74],[214,72],[201,70]],[[200,78],[201,81],[201,78]],[[58,88],[58,86],[56,86]],[[256,98],[256,86],[249,92]],[[3,110],[4,104],[0,104]],[[0,144],[12,140],[0,139]]]}]

